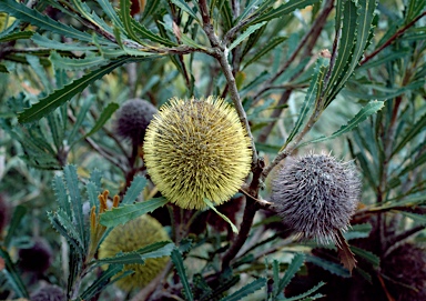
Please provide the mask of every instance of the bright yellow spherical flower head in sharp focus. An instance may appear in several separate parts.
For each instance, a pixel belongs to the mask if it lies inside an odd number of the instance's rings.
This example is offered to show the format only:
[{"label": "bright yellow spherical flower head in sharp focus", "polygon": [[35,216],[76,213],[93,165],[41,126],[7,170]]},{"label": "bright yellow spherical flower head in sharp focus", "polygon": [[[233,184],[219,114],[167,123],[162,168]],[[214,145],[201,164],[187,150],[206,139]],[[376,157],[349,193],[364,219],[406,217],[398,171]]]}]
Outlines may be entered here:
[{"label": "bright yellow spherical flower head in sharp focus", "polygon": [[250,172],[252,150],[236,111],[221,98],[171,99],[150,123],[144,160],[152,181],[184,209],[221,204]]}]

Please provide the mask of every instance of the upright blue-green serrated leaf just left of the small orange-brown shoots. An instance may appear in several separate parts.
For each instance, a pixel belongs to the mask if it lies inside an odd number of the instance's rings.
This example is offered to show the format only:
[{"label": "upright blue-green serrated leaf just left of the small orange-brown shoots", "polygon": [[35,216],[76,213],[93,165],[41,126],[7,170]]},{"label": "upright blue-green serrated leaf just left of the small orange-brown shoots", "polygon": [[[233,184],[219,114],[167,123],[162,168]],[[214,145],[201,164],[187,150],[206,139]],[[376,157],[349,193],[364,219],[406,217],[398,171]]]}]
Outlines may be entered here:
[{"label": "upright blue-green serrated leaf just left of the small orange-brown shoots", "polygon": [[87,242],[87,224],[84,223],[84,215],[83,215],[83,201],[80,194],[80,188],[79,188],[79,179],[77,175],[77,168],[75,165],[65,165],[63,168],[63,177],[67,183],[68,193],[70,195],[70,201],[72,205],[72,213],[73,219],[72,221],[75,222],[77,231],[78,231],[78,239],[81,243],[82,250],[85,250],[85,242]]}]

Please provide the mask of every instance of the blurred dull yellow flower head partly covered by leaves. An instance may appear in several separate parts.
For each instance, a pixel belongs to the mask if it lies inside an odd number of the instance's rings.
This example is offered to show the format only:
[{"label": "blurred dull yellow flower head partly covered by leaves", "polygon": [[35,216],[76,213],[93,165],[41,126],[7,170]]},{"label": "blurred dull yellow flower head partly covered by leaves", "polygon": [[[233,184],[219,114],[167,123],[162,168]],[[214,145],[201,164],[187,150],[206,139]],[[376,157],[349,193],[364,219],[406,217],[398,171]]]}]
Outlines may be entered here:
[{"label": "blurred dull yellow flower head partly covered by leaves", "polygon": [[[145,214],[115,227],[102,242],[99,258],[113,258],[119,252],[132,252],[151,243],[168,240],[170,238],[161,223]],[[168,257],[161,257],[146,259],[144,264],[125,264],[123,271],[132,270],[134,273],[120,279],[115,284],[128,292],[143,288],[164,269],[168,261]]]}]

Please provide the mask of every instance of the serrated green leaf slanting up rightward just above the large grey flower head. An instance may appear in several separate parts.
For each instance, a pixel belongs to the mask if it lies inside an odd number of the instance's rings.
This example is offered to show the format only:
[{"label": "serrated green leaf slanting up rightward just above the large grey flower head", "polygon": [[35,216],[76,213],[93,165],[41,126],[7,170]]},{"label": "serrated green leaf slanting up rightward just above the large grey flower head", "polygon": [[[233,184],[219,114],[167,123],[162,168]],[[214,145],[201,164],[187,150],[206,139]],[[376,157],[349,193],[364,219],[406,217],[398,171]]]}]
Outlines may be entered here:
[{"label": "serrated green leaf slanting up rightward just above the large grey flower head", "polygon": [[359,112],[357,112],[356,116],[347,122],[347,124],[342,126],[336,132],[332,133],[328,137],[323,136],[317,139],[307,141],[305,143],[302,143],[300,147],[311,144],[311,143],[317,143],[326,140],[332,140],[344,133],[347,133],[353,129],[355,129],[361,122],[366,120],[368,117],[379,111],[383,107],[384,107],[384,101],[371,101],[364,108],[362,108]]}]

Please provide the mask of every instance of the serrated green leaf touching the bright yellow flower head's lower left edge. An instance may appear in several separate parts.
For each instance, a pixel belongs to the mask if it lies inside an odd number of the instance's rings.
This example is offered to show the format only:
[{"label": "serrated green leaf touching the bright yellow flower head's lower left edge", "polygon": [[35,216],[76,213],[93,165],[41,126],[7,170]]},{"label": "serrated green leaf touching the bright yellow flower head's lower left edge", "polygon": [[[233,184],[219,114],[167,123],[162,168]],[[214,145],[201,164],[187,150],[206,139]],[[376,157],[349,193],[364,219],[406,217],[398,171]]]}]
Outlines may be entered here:
[{"label": "serrated green leaf touching the bright yellow flower head's lower left edge", "polygon": [[168,202],[169,200],[165,198],[156,198],[140,203],[113,208],[101,214],[101,224],[108,228],[124,224],[142,214],[154,211]]}]

